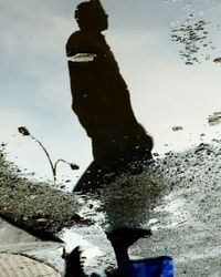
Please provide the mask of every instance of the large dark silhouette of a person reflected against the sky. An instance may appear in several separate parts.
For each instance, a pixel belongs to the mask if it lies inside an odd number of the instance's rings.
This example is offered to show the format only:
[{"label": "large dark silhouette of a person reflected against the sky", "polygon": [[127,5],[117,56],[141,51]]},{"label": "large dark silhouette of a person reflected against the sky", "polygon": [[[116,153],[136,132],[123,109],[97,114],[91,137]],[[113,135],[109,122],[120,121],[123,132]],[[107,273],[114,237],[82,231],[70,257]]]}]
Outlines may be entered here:
[{"label": "large dark silhouette of a person reflected against the sky", "polygon": [[[94,161],[74,191],[87,192],[130,172],[129,163],[151,158],[152,140],[134,115],[127,85],[102,34],[108,23],[101,2],[80,3],[75,19],[80,30],[66,43],[72,109],[92,138]],[[134,173],[140,170],[139,164]]]}]

